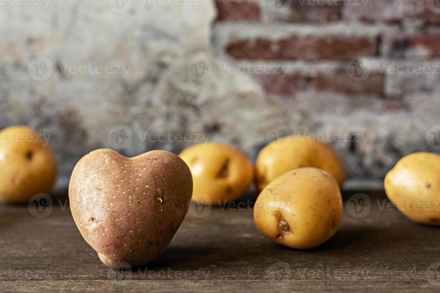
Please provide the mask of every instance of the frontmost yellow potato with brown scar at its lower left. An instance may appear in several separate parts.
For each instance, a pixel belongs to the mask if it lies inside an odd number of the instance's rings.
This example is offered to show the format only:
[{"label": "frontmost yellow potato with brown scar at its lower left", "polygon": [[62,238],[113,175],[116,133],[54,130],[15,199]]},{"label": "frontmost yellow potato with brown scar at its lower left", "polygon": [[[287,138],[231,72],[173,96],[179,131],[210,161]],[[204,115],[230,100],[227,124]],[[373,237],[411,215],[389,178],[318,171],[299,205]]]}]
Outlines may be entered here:
[{"label": "frontmost yellow potato with brown scar at its lower left", "polygon": [[269,183],[257,198],[253,218],[273,241],[298,249],[326,242],[342,218],[337,182],[316,168],[291,170]]}]

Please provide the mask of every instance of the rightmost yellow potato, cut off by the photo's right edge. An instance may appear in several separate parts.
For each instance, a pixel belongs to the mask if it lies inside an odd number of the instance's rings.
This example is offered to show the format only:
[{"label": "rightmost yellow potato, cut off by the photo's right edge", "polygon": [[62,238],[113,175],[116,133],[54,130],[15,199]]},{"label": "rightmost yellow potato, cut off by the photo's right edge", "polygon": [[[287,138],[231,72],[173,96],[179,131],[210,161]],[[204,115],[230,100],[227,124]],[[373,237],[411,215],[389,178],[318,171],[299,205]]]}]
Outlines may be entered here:
[{"label": "rightmost yellow potato, cut off by the photo's right edge", "polygon": [[389,200],[413,221],[440,225],[440,156],[416,152],[400,159],[385,176]]}]

